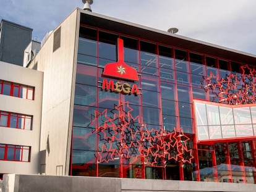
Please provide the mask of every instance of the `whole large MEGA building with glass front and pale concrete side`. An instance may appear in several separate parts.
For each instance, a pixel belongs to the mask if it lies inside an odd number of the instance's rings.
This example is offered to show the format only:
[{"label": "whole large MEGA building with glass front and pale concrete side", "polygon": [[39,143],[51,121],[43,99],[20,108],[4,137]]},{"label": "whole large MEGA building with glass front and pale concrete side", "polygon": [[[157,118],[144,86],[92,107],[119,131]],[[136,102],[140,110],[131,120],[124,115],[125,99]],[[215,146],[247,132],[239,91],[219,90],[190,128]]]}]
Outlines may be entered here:
[{"label": "whole large MEGA building with glass front and pale concrete side", "polygon": [[255,61],[75,9],[29,65],[41,173],[255,183]]}]

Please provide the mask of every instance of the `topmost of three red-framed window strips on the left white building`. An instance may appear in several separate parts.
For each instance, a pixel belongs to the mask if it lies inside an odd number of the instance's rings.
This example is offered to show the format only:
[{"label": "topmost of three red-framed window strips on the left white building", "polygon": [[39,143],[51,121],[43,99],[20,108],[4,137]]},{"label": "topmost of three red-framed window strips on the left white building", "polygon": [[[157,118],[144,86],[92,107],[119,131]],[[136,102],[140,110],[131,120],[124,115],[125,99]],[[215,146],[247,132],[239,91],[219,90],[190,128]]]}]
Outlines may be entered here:
[{"label": "topmost of three red-framed window strips on the left white building", "polygon": [[34,100],[34,92],[35,88],[33,86],[0,80],[0,94]]}]

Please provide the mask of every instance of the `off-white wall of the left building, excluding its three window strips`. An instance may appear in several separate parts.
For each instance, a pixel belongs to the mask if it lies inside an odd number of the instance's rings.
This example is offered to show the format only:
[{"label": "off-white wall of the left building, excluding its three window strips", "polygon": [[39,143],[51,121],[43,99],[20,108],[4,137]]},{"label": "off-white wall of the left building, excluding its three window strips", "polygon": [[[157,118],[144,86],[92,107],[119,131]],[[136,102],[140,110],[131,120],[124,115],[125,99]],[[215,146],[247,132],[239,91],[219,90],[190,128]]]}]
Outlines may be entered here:
[{"label": "off-white wall of the left building, excluding its three window strips", "polygon": [[35,87],[35,100],[0,94],[1,111],[33,115],[32,130],[0,127],[0,143],[31,146],[30,162],[0,161],[0,173],[38,173],[43,72],[0,61],[0,79]]}]

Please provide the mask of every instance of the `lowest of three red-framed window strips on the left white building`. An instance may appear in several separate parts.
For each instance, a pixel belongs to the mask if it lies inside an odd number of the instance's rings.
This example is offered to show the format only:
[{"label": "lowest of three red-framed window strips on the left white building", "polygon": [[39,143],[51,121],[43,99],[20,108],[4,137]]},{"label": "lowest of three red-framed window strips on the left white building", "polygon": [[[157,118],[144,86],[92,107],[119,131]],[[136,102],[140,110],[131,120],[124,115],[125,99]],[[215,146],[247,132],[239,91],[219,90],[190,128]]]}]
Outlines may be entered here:
[{"label": "lowest of three red-framed window strips on the left white building", "polygon": [[0,161],[30,162],[30,151],[29,146],[0,144]]}]

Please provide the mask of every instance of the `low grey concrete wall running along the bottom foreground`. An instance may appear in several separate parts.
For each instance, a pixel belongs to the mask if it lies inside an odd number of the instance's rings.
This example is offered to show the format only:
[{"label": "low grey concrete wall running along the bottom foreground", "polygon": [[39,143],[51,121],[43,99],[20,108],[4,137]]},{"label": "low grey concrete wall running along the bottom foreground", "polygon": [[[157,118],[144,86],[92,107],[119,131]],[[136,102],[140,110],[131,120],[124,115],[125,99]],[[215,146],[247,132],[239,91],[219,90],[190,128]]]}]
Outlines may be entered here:
[{"label": "low grey concrete wall running along the bottom foreground", "polygon": [[255,192],[256,185],[134,178],[4,175],[5,192]]}]

